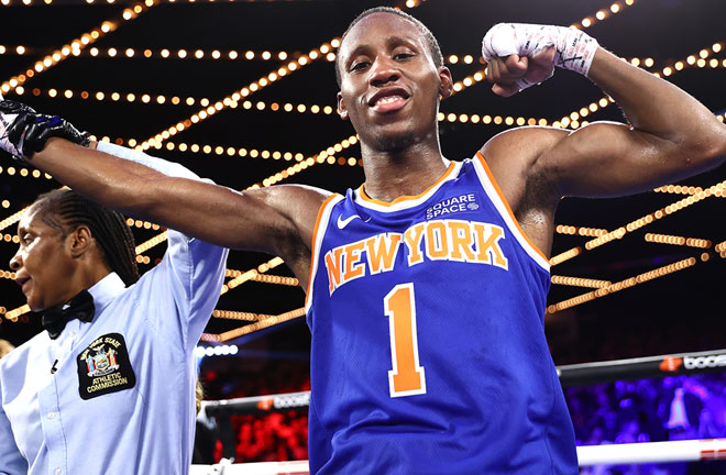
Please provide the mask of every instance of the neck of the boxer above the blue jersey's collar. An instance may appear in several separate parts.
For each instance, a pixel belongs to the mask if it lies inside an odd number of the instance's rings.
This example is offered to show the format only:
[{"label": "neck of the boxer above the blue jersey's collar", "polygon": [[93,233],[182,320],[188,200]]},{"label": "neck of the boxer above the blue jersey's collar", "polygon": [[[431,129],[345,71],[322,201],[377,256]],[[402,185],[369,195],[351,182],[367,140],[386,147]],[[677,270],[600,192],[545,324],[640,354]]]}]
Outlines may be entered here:
[{"label": "neck of the boxer above the blue jersey's collar", "polygon": [[420,143],[396,152],[381,152],[363,145],[362,155],[365,194],[386,202],[422,194],[447,170],[438,143]]}]

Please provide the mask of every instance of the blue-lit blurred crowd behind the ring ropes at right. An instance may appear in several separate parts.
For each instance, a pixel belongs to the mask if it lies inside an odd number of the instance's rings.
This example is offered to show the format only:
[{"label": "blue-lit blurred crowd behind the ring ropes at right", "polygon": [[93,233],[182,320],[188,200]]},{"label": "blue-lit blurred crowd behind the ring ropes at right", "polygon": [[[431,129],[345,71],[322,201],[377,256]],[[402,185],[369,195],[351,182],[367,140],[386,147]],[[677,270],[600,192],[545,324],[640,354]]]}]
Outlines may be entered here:
[{"label": "blue-lit blurred crowd behind the ring ropes at right", "polygon": [[[579,445],[726,438],[726,374],[565,388]],[[588,475],[726,474],[726,462],[597,466]]]}]

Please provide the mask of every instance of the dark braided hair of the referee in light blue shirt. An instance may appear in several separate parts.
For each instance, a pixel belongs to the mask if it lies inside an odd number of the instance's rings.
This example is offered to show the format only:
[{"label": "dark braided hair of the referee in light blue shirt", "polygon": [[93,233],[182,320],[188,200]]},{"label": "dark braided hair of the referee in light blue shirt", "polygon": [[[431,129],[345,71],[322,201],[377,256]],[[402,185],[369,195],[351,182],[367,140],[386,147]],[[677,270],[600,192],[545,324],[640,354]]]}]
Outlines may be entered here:
[{"label": "dark braided hair of the referee in light blue shirt", "polygon": [[43,222],[59,230],[63,238],[87,225],[111,270],[127,286],[139,280],[136,245],[123,216],[67,188],[41,195],[33,207]]}]

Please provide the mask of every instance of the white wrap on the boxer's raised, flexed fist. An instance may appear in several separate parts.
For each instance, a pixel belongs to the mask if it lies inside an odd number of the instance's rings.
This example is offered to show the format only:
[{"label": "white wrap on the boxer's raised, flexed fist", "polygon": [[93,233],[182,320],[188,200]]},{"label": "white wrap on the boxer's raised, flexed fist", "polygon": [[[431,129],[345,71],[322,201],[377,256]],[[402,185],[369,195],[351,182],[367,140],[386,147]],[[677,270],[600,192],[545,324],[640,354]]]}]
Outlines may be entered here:
[{"label": "white wrap on the boxer's raised, flexed fist", "polygon": [[[487,62],[513,54],[531,58],[549,46],[556,49],[554,66],[587,76],[598,45],[595,38],[573,27],[498,23],[484,36],[482,56]],[[519,90],[534,86],[526,79],[516,84]]]}]

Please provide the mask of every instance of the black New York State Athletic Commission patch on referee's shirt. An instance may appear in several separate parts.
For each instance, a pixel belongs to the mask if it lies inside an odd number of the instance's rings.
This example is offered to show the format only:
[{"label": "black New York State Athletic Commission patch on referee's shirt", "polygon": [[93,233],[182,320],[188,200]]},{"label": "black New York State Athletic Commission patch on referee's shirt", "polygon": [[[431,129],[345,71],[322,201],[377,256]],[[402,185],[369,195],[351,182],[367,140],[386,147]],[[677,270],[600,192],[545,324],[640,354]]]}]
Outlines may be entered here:
[{"label": "black New York State Athletic Commission patch on referee's shirt", "polygon": [[136,385],[123,335],[109,333],[97,338],[77,358],[78,393],[91,399]]}]

